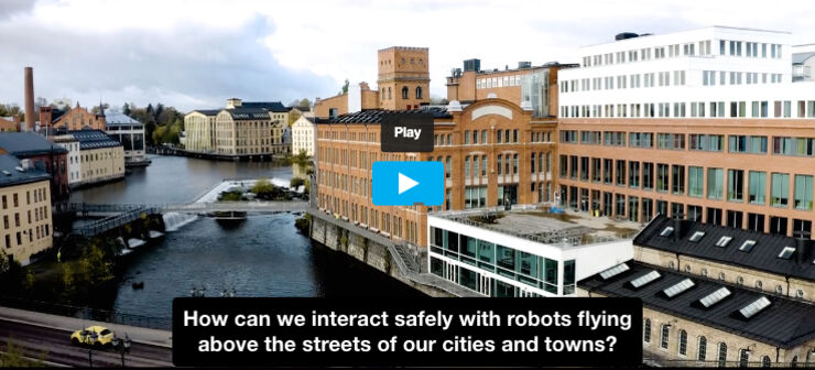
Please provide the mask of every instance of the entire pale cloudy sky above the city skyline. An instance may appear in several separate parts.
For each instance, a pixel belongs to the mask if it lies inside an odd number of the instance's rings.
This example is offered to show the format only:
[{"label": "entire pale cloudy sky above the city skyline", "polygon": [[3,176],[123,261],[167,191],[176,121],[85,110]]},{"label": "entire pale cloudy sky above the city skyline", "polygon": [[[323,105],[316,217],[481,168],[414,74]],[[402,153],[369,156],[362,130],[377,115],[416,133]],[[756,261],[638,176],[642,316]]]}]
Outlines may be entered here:
[{"label": "entire pale cloudy sky above the city skyline", "polygon": [[376,88],[377,51],[430,47],[431,96],[463,61],[481,68],[578,62],[619,32],[707,25],[792,32],[815,43],[808,1],[718,0],[0,0],[0,102],[34,95],[182,111],[226,99],[329,97],[347,78]]}]

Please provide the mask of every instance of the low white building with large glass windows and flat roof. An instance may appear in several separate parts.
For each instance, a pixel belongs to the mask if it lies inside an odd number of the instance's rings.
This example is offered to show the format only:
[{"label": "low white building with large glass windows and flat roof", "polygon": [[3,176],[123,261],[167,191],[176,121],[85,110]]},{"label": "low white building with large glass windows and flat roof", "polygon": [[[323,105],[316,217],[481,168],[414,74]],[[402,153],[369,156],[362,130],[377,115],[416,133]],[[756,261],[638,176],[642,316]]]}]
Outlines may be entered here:
[{"label": "low white building with large glass windows and flat roof", "polygon": [[[632,238],[534,213],[427,216],[431,273],[485,296],[574,296],[577,281],[633,258]],[[631,230],[632,232],[634,230]]]}]

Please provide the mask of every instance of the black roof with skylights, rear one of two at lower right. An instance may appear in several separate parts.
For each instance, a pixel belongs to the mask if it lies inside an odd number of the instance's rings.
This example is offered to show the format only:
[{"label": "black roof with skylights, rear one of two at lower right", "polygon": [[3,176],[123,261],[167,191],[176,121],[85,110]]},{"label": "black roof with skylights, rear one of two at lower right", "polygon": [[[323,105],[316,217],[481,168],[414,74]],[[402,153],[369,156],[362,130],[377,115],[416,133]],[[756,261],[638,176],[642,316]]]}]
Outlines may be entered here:
[{"label": "black roof with skylights, rear one of two at lower right", "polygon": [[[666,229],[671,228],[669,232]],[[705,260],[767,271],[784,276],[815,280],[815,248],[807,241],[805,255],[795,250],[797,240],[743,229],[683,220],[681,230],[674,220],[663,215],[654,219],[634,238],[634,246],[652,248]],[[663,233],[667,233],[663,236]],[[696,237],[696,238],[694,238]],[[696,240],[692,240],[696,239]],[[727,241],[725,241],[727,240]],[[748,242],[748,241],[752,242]],[[792,253],[782,258],[782,252]]]}]

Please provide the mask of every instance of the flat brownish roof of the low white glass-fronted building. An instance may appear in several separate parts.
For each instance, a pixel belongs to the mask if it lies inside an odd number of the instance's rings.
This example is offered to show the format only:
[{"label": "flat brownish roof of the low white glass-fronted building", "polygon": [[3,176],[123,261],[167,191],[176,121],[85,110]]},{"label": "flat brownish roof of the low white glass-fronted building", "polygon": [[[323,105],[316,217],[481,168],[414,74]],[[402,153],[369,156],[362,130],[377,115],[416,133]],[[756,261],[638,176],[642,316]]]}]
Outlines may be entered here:
[{"label": "flat brownish roof of the low white glass-fronted building", "polygon": [[639,231],[637,222],[615,221],[566,210],[551,213],[534,206],[514,206],[433,213],[431,216],[506,233],[546,244],[585,246],[631,239]]}]

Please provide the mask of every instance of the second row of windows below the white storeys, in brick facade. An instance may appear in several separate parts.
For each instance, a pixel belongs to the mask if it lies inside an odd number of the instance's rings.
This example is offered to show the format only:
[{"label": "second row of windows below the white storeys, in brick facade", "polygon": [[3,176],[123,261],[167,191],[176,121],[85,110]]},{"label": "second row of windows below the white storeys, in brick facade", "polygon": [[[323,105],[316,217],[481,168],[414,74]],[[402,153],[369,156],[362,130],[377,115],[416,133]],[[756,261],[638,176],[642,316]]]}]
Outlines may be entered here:
[{"label": "second row of windows below the white storeys, in brick facade", "polygon": [[[579,160],[579,165],[578,165]],[[655,170],[655,174],[654,174]],[[627,174],[628,172],[628,174]],[[707,183],[705,168],[702,166],[669,165],[664,163],[598,159],[577,155],[561,155],[561,177],[579,177],[580,181],[607,185],[628,186],[660,193],[671,192],[674,195],[685,195],[702,198],[707,192],[707,198],[722,200],[727,191],[727,200],[754,205],[767,204],[768,176],[763,171],[748,171],[728,168],[727,186],[725,186],[725,168],[707,167]],[[685,181],[687,176],[687,182]],[[793,208],[801,210],[813,209],[813,176],[798,175],[793,177],[787,173],[771,173],[770,205],[787,208],[790,206],[790,181],[794,179]],[[705,187],[707,184],[707,187]],[[747,191],[747,192],[746,192]]]}]

